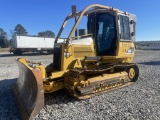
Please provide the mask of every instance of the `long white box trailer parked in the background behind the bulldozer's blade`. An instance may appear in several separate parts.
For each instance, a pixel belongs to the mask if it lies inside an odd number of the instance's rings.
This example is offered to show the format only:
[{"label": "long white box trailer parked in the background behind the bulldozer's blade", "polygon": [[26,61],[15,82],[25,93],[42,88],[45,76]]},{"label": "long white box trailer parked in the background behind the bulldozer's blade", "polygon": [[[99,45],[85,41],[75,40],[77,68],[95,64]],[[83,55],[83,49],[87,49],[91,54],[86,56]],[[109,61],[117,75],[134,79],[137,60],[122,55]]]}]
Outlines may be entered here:
[{"label": "long white box trailer parked in the background behind the bulldozer's blade", "polygon": [[[55,38],[35,37],[14,35],[13,47],[10,52],[20,55],[24,52],[44,52],[52,53]],[[64,42],[65,39],[59,39],[58,42]]]}]

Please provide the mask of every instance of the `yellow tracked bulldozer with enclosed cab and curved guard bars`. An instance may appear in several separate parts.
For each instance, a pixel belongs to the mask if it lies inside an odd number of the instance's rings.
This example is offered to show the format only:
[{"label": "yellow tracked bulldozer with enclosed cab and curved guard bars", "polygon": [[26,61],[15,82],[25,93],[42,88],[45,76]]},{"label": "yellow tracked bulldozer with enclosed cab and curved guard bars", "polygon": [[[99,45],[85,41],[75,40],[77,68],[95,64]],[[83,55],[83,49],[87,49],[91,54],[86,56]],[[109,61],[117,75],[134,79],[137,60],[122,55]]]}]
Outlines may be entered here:
[{"label": "yellow tracked bulldozer with enclosed cab and curved guard bars", "polygon": [[[79,29],[82,18],[86,29]],[[67,21],[75,23],[64,42],[58,42]],[[93,4],[64,20],[55,39],[53,63],[19,58],[19,77],[12,91],[21,119],[33,119],[44,106],[44,93],[65,89],[87,99],[131,85],[139,69],[131,63],[135,54],[136,16],[113,7]]]}]

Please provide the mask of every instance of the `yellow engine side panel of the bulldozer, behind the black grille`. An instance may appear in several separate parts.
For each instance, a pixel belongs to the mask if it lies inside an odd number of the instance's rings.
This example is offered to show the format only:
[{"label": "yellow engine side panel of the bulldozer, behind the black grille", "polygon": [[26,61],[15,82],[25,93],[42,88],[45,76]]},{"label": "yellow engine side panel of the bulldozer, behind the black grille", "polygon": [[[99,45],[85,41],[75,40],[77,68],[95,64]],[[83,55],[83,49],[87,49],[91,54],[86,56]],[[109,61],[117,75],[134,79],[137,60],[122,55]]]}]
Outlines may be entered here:
[{"label": "yellow engine side panel of the bulldozer, behind the black grille", "polygon": [[64,56],[64,52],[61,55],[61,70],[66,71],[72,68],[81,68],[80,60],[84,59],[84,56],[95,56],[95,49],[93,43],[91,45],[72,45],[72,44],[59,44],[62,45],[62,51],[70,53],[69,57]]}]

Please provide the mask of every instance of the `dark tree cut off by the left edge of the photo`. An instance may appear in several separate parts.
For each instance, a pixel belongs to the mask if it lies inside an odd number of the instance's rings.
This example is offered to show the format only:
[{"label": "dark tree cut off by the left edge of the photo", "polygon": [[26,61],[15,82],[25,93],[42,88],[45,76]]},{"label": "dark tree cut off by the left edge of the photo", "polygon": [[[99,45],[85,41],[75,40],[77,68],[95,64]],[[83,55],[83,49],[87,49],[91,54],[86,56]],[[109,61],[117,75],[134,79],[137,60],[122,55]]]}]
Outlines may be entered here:
[{"label": "dark tree cut off by the left edge of the photo", "polygon": [[0,28],[0,47],[7,47],[7,33]]}]

